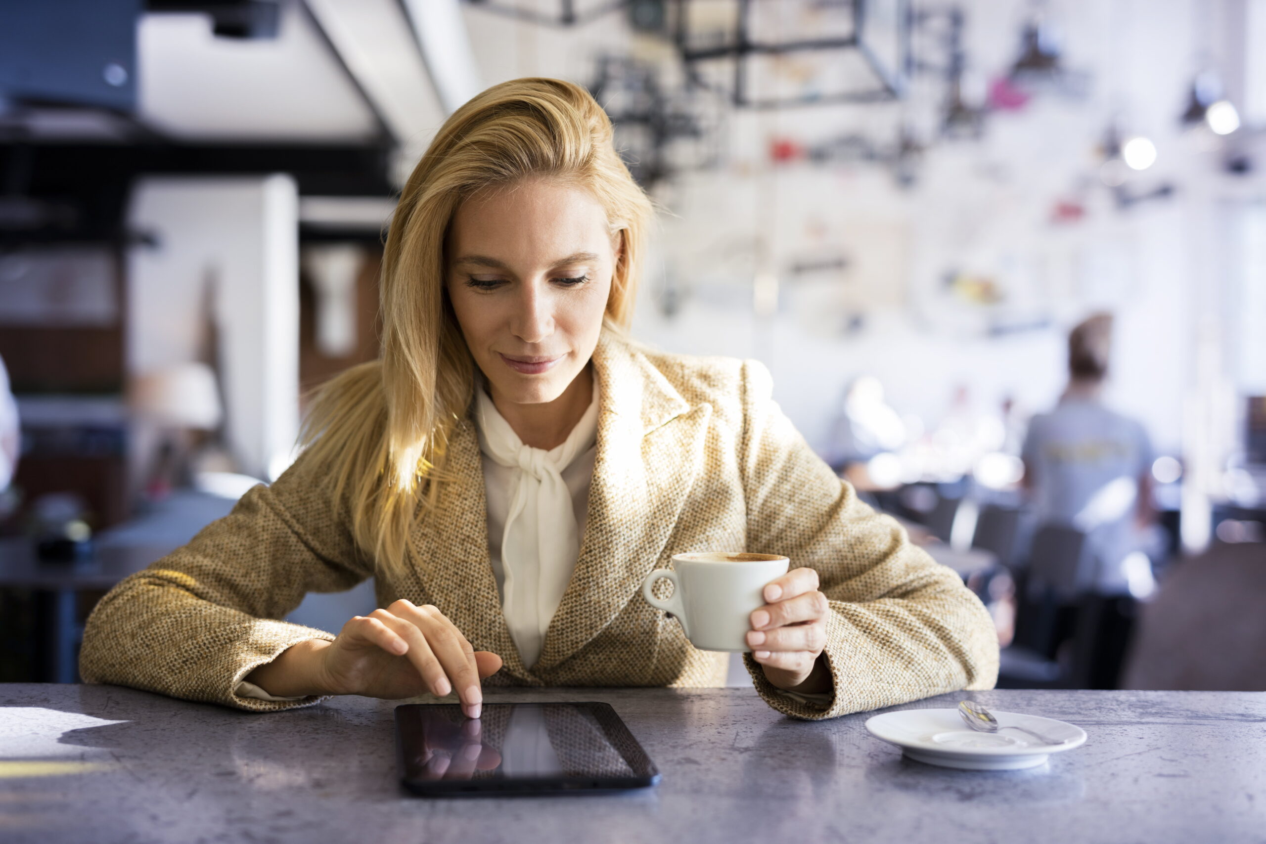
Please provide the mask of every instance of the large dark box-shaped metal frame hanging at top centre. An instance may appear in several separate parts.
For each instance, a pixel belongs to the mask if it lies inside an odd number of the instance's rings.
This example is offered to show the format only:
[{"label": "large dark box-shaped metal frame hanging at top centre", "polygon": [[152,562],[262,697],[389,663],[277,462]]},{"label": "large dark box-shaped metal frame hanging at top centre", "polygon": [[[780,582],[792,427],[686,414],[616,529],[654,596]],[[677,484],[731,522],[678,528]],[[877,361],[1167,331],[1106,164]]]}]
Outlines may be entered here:
[{"label": "large dark box-shaped metal frame hanging at top centre", "polygon": [[[753,3],[761,0],[738,1],[738,28],[734,42],[717,47],[694,48],[687,43],[686,33],[686,6],[690,0],[674,0],[676,8],[675,23],[672,27],[674,43],[677,47],[687,73],[696,84],[704,84],[695,68],[696,62],[732,58],[734,61],[734,81],[730,91],[732,100],[738,108],[753,109],[780,109],[796,105],[832,105],[841,102],[882,102],[896,100],[905,94],[905,82],[910,70],[910,28],[912,13],[909,0],[895,0],[898,11],[898,39],[901,53],[899,67],[889,68],[876,54],[874,47],[867,40],[866,10],[871,0],[843,0],[852,6],[853,33],[843,38],[809,38],[787,42],[765,42],[752,35],[751,13]],[[824,51],[855,49],[865,58],[871,72],[875,75],[877,86],[874,91],[855,91],[838,95],[814,96],[804,99],[752,99],[748,94],[748,68],[746,59],[756,54],[785,54],[795,52],[824,52]]]}]

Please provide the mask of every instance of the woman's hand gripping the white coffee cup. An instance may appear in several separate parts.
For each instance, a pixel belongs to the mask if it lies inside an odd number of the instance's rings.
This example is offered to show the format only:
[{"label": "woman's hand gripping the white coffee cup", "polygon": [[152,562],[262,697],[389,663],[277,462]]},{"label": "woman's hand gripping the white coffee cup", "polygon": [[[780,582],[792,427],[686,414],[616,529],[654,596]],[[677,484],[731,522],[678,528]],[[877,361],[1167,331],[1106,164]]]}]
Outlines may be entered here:
[{"label": "woman's hand gripping the white coffee cup", "polygon": [[785,691],[830,691],[830,669],[822,658],[830,605],[818,591],[818,572],[795,568],[770,581],[765,600],[752,611],[747,644],[766,680]]}]

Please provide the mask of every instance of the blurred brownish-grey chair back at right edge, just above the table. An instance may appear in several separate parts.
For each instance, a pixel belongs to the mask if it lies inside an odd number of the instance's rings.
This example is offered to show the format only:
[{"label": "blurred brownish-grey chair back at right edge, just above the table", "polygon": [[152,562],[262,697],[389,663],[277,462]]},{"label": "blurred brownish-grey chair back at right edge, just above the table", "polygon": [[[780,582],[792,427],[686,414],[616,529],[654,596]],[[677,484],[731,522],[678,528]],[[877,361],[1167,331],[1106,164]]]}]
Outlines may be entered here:
[{"label": "blurred brownish-grey chair back at right edge, just above the table", "polygon": [[1122,688],[1266,691],[1266,544],[1215,544],[1142,606]]}]

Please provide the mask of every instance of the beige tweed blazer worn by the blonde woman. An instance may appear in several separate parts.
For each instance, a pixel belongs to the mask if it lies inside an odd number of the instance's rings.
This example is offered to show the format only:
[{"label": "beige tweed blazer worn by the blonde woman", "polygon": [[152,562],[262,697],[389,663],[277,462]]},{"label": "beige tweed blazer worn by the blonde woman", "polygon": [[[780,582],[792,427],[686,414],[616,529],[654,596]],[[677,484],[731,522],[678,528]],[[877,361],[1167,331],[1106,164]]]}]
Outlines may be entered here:
[{"label": "beige tweed blazer worn by the blonde woman", "polygon": [[[646,604],[642,580],[682,552],[781,553],[815,568],[830,599],[834,696],[823,710],[781,695],[748,659],[775,709],[833,717],[994,685],[998,638],[984,606],[814,454],[772,401],[765,367],[652,352],[610,333],[594,366],[603,388],[587,523],[537,664],[524,667],[501,615],[470,418],[451,443],[453,480],[414,528],[409,573],[377,577],[380,606],[405,597],[439,607],[476,650],[505,661],[490,686],[720,686],[725,654],[695,650],[676,619]],[[234,690],[290,645],[333,638],[281,620],[305,593],[375,574],[344,514],[323,467],[300,456],[101,600],[84,633],[84,678],[257,711],[315,702]]]}]

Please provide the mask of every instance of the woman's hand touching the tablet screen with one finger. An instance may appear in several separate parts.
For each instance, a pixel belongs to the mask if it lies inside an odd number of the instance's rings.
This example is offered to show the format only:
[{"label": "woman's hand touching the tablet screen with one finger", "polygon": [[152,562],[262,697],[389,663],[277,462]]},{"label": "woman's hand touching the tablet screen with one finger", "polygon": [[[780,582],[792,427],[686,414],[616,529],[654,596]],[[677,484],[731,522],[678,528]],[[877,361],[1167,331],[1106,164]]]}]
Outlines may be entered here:
[{"label": "woman's hand touching the tablet screen with one finger", "polygon": [[434,606],[404,599],[358,615],[333,642],[309,640],[256,668],[247,680],[279,696],[365,695],[396,700],[457,690],[462,711],[479,717],[480,681],[501,668],[501,658],[475,650]]}]

